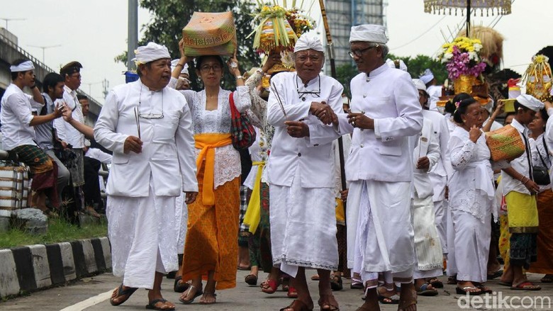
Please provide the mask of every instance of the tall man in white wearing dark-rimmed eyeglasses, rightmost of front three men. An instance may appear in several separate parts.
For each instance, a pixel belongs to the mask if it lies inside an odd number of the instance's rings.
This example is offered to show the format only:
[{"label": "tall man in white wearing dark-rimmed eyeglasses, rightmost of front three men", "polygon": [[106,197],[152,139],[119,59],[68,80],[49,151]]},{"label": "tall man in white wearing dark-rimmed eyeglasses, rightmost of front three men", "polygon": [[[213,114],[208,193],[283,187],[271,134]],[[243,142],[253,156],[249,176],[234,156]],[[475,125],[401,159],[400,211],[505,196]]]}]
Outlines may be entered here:
[{"label": "tall man in white wearing dark-rimmed eyeglasses, rightmost of front three men", "polygon": [[[415,264],[410,187],[413,145],[423,115],[410,75],[385,63],[386,28],[354,26],[350,56],[359,74],[351,81],[350,113],[339,115],[340,132],[353,132],[346,163],[347,261],[367,288],[359,310],[380,310],[376,286],[401,284],[398,310],[416,310]],[[390,289],[391,290],[391,289]]]}]

